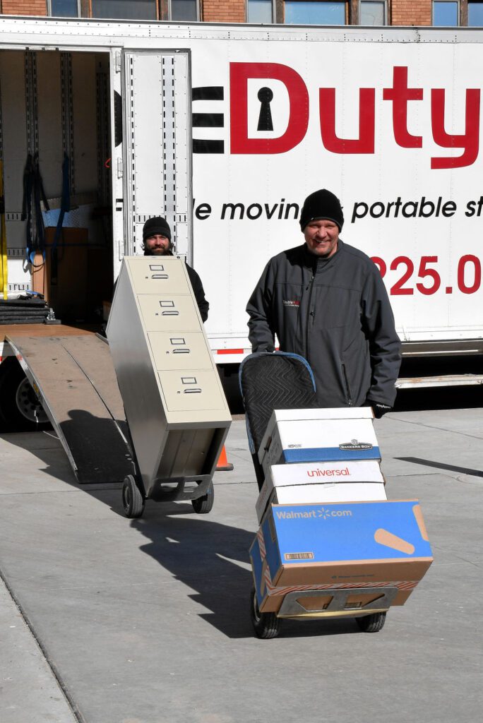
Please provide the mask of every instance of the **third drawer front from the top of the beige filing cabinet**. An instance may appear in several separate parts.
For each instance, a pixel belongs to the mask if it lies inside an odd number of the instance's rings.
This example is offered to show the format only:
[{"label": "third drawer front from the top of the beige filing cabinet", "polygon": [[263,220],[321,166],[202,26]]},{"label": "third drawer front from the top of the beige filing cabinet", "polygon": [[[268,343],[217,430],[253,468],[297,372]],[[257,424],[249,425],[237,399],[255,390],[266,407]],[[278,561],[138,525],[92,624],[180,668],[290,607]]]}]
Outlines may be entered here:
[{"label": "third drawer front from the top of the beige filing cabinet", "polygon": [[151,331],[148,339],[155,360],[155,368],[213,369],[205,336],[200,332],[165,333]]}]

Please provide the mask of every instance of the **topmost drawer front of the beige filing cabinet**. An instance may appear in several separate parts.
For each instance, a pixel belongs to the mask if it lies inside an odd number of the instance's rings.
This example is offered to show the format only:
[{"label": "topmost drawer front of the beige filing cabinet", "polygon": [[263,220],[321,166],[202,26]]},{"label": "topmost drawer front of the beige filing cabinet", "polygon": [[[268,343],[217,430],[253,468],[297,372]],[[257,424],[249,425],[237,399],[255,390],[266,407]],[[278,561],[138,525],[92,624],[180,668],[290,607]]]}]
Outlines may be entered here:
[{"label": "topmost drawer front of the beige filing cabinet", "polygon": [[136,294],[189,294],[189,286],[182,263],[169,257],[131,259],[129,268]]}]

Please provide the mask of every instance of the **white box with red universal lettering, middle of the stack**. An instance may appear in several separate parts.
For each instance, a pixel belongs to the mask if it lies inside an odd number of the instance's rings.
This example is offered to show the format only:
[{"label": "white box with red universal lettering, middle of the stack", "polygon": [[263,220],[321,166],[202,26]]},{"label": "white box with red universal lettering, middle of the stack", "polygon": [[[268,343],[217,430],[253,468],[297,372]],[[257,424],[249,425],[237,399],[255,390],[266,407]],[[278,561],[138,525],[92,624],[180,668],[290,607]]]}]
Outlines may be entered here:
[{"label": "white box with red universal lettering, middle of the stack", "polygon": [[278,464],[270,467],[255,509],[260,523],[269,502],[290,505],[385,499],[384,477],[376,460]]}]

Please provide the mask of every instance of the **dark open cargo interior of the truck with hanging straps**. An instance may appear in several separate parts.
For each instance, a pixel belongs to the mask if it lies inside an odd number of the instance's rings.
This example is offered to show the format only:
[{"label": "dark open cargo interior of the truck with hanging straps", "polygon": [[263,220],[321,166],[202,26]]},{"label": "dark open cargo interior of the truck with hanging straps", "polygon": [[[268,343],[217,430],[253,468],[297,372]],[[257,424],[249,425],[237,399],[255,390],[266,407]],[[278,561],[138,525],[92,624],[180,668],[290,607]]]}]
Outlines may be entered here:
[{"label": "dark open cargo interior of the truck with hanging straps", "polygon": [[0,50],[1,291],[67,324],[101,325],[112,297],[109,87],[108,52]]}]

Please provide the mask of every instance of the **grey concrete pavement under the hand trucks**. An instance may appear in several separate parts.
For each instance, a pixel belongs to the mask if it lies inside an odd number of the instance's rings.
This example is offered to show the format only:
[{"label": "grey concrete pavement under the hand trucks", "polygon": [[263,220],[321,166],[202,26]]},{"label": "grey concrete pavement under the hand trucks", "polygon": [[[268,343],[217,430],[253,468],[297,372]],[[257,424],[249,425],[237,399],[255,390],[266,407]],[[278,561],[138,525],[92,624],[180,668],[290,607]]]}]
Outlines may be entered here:
[{"label": "grey concrete pavement under the hand trucks", "polygon": [[20,607],[1,591],[1,723],[473,723],[483,411],[375,424],[388,497],[421,500],[435,562],[381,633],[286,620],[273,641],[249,620],[257,487],[242,420],[210,515],[148,502],[135,521],[119,486],[76,484],[52,435],[0,437],[0,570]]}]

